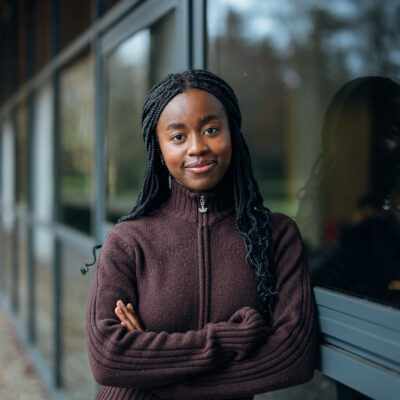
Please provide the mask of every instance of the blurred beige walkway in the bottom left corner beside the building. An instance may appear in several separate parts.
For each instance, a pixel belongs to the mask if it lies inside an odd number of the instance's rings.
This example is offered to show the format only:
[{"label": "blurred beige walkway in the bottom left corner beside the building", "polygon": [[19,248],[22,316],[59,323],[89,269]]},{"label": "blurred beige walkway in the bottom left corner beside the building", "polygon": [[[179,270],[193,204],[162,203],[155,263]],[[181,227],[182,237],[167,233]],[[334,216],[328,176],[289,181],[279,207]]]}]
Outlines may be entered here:
[{"label": "blurred beige walkway in the bottom left corner beside the building", "polygon": [[0,306],[0,399],[47,400],[42,385]]}]

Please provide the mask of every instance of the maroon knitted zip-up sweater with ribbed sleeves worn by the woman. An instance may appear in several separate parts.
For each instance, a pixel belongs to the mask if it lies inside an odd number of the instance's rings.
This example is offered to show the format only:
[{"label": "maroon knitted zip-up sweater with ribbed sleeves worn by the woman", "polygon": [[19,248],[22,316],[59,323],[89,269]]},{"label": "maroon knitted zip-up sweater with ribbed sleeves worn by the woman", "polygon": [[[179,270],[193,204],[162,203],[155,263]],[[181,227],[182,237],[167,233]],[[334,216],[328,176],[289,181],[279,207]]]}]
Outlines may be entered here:
[{"label": "maroon knitted zip-up sweater with ribbed sleeves worn by the woman", "polygon": [[[173,180],[161,207],[108,233],[86,313],[96,399],[249,400],[312,378],[315,307],[299,231],[270,214],[278,294],[268,328],[230,187],[195,193]],[[119,299],[144,331],[120,324]]]}]

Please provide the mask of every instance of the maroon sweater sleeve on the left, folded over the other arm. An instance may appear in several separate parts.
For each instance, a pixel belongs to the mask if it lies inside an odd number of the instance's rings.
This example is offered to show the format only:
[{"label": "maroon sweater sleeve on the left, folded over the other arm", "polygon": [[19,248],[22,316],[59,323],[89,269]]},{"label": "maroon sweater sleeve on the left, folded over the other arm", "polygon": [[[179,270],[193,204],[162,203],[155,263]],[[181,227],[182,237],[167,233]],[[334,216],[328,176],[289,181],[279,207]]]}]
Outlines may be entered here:
[{"label": "maroon sweater sleeve on the left, folded over the other arm", "polygon": [[86,312],[86,337],[95,380],[139,389],[167,385],[242,359],[267,335],[250,307],[228,321],[184,333],[128,331],[114,314],[118,299],[137,306],[135,252],[110,232],[100,252]]}]

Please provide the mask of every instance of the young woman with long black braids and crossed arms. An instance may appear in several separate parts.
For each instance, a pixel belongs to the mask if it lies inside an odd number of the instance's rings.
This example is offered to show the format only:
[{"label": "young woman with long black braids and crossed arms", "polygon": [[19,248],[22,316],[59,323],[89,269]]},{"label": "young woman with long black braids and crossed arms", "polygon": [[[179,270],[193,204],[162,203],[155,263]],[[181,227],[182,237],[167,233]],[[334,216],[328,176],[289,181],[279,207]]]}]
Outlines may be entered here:
[{"label": "young woman with long black braids and crossed arms", "polygon": [[143,108],[148,159],[87,308],[97,399],[252,399],[312,378],[317,335],[295,223],[253,177],[237,99],[207,71]]}]

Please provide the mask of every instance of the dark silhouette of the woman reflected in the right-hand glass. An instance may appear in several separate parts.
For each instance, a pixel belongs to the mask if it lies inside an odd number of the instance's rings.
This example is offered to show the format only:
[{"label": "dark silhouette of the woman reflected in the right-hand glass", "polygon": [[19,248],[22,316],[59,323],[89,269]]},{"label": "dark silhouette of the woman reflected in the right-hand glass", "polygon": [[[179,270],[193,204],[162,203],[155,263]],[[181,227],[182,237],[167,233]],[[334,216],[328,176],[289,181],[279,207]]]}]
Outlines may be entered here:
[{"label": "dark silhouette of the woman reflected in the right-hand glass", "polygon": [[300,202],[321,209],[312,277],[400,305],[400,85],[347,82],[329,105],[322,143]]}]

